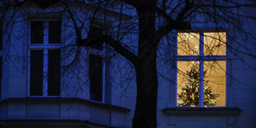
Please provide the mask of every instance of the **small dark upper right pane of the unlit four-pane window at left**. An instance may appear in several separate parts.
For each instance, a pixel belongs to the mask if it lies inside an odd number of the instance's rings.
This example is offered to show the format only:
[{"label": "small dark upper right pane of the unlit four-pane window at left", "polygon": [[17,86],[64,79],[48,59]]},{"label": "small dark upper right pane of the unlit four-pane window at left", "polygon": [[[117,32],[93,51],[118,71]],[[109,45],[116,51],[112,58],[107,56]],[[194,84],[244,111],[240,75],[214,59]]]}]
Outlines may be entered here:
[{"label": "small dark upper right pane of the unlit four-pane window at left", "polygon": [[49,44],[60,44],[61,21],[49,21]]}]

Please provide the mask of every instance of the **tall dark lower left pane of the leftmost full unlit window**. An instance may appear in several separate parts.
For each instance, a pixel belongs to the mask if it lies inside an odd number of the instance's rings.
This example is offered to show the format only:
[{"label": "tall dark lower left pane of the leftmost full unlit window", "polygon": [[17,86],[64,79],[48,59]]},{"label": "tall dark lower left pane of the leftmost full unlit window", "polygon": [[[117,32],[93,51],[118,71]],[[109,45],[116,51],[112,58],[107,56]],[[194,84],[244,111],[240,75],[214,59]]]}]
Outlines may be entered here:
[{"label": "tall dark lower left pane of the leftmost full unlit window", "polygon": [[30,95],[43,94],[43,50],[31,50]]}]

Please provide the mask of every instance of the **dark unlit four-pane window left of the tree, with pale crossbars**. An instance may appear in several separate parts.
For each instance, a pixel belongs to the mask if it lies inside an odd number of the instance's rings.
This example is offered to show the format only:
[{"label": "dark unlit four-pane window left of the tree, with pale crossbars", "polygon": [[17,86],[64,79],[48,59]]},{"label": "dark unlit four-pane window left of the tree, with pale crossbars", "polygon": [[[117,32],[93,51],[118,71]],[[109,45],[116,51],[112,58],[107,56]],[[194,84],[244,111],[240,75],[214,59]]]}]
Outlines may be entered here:
[{"label": "dark unlit four-pane window left of the tree, with pale crossbars", "polygon": [[30,21],[29,96],[60,95],[61,21]]}]

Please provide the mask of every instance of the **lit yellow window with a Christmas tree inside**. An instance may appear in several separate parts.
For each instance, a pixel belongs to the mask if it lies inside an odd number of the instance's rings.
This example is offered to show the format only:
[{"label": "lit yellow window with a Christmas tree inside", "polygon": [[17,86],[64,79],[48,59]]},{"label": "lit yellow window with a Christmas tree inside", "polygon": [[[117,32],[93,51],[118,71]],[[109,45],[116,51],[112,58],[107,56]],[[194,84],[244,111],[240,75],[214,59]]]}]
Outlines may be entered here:
[{"label": "lit yellow window with a Christmas tree inside", "polygon": [[177,106],[225,107],[225,32],[179,32]]}]

